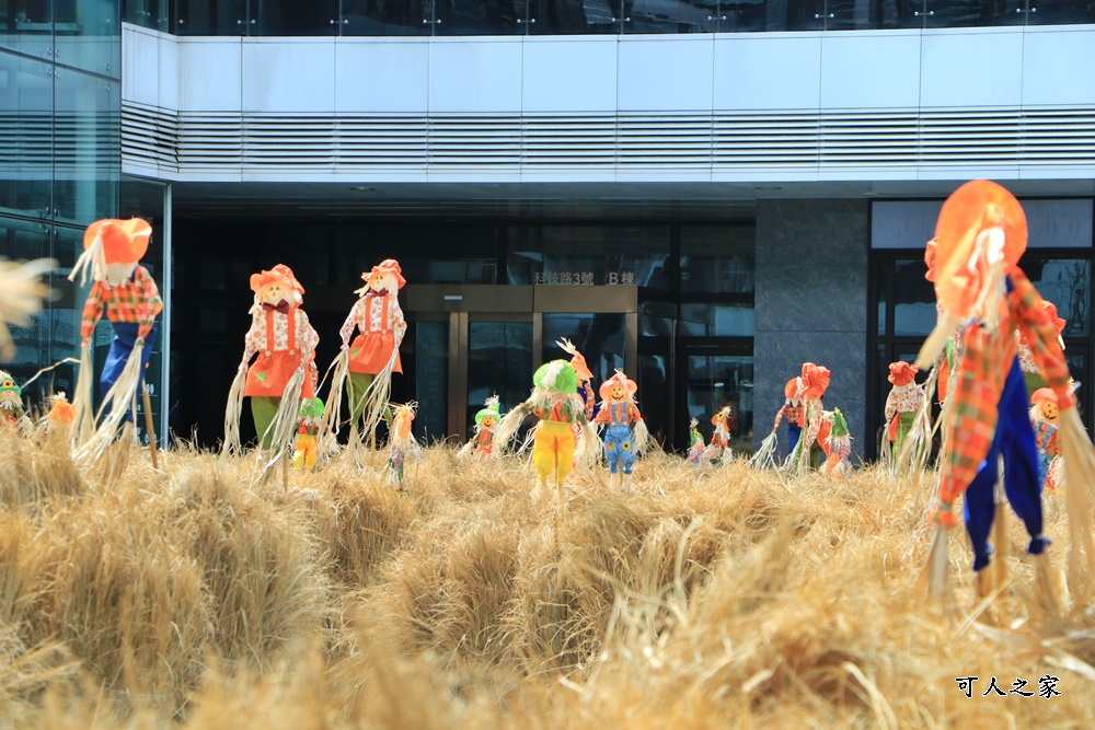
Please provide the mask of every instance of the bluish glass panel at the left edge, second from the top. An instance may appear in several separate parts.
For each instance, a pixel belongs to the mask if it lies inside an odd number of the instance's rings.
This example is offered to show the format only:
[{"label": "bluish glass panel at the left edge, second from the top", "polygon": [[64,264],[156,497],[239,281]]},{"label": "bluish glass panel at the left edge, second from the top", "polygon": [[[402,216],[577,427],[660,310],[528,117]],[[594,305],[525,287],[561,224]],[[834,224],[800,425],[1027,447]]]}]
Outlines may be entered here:
[{"label": "bluish glass panel at the left edge, second from the top", "polygon": [[53,66],[0,51],[0,213],[53,209]]}]

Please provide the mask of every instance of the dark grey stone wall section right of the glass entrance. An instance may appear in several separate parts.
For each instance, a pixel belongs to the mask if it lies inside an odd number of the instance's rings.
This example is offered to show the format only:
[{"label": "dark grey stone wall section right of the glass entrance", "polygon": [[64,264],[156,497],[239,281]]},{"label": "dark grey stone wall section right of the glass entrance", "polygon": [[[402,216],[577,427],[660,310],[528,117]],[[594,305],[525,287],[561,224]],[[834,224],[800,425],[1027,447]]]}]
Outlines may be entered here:
[{"label": "dark grey stone wall section right of the glass entrance", "polygon": [[853,462],[864,452],[868,209],[866,200],[757,204],[756,443],[783,405],[783,386],[812,361],[832,371],[825,406],[848,419]]}]

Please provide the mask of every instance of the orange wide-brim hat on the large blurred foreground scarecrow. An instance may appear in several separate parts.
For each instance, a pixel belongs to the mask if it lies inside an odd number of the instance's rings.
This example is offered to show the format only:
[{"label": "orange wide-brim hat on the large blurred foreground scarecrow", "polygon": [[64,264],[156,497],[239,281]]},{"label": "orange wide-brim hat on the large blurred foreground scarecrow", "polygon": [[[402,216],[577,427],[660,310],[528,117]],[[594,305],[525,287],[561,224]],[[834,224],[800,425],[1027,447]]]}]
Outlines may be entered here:
[{"label": "orange wide-brim hat on the large blurred foreground scarecrow", "polygon": [[947,314],[983,314],[973,309],[984,301],[990,285],[990,252],[983,250],[979,239],[981,233],[998,228],[1004,235],[1000,253],[1003,274],[1007,274],[1026,251],[1027,242],[1026,215],[1015,196],[996,183],[975,179],[943,204],[935,225],[935,286]]}]

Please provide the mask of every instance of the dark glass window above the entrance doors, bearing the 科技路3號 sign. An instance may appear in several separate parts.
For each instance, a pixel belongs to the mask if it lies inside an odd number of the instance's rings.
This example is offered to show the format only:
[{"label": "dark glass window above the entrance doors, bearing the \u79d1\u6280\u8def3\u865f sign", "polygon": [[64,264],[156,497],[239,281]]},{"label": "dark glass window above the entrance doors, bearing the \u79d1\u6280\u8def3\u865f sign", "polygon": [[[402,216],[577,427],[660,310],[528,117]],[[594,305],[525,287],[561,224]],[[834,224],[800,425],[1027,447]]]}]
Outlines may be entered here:
[{"label": "dark glass window above the entrance doors, bearing the \u79d1\u6280\u8def3\u865f sign", "polygon": [[668,227],[507,229],[509,283],[634,283],[669,290]]}]

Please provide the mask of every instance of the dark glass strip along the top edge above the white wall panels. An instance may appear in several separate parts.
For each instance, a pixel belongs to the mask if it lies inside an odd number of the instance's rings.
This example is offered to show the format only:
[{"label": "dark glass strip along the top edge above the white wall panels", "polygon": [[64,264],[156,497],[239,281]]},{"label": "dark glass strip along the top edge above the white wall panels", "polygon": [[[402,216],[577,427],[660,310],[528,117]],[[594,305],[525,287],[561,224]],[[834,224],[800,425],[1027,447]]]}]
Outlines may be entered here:
[{"label": "dark glass strip along the top edge above the white wall panels", "polygon": [[[28,3],[30,4],[30,3]],[[1095,22],[1076,0],[125,0],[176,35],[572,35],[849,31]]]}]

